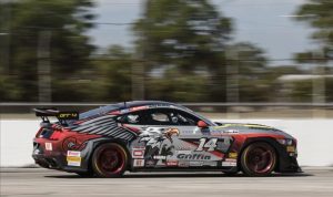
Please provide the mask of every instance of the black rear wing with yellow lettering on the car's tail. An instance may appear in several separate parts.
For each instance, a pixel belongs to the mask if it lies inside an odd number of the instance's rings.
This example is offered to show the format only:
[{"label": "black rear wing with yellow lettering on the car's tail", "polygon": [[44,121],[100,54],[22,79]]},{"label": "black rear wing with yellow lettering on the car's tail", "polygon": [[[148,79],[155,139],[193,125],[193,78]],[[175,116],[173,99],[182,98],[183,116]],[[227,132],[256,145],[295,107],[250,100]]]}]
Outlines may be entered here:
[{"label": "black rear wing with yellow lettering on the car's tail", "polygon": [[57,117],[60,124],[65,124],[65,121],[79,120],[79,112],[60,112],[57,108],[33,108],[36,116],[41,117],[43,123],[50,123],[49,117]]}]

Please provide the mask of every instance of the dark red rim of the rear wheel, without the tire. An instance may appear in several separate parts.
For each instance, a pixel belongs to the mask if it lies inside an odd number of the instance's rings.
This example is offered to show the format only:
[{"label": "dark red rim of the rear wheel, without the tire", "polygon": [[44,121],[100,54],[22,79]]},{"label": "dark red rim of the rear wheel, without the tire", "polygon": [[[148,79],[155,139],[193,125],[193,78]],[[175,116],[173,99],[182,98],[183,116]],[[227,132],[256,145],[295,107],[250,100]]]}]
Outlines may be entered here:
[{"label": "dark red rim of the rear wheel, without the tire", "polygon": [[118,174],[124,168],[125,155],[120,147],[104,147],[98,156],[98,166],[105,174]]}]

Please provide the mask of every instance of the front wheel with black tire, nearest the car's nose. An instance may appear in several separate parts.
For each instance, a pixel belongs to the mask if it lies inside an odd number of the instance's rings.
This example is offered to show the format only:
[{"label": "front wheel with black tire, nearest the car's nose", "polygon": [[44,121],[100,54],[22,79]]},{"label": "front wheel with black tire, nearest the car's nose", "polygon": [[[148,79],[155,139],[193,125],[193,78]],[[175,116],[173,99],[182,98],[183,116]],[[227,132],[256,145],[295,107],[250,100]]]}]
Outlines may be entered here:
[{"label": "front wheel with black tire, nearest the car's nose", "polygon": [[248,176],[268,176],[276,165],[276,152],[268,143],[250,144],[242,153],[241,166]]}]

